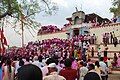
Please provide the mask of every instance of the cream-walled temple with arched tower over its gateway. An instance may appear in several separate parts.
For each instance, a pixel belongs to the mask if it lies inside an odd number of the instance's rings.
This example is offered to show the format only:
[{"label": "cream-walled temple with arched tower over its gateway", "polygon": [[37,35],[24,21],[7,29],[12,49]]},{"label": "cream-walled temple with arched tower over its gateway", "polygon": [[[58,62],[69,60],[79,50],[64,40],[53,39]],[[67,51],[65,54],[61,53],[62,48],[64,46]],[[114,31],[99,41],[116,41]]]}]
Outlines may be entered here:
[{"label": "cream-walled temple with arched tower over its gateway", "polygon": [[[109,53],[117,53],[120,51],[120,23],[116,22],[116,20],[111,21],[107,18],[102,18],[95,13],[85,14],[83,11],[74,12],[72,16],[66,18],[66,20],[68,23],[61,29],[53,26],[52,28],[55,29],[47,33],[40,32],[43,31],[40,29],[37,39],[40,41],[53,38],[72,39],[76,36],[84,35],[90,39],[90,46],[94,47],[96,51],[98,46],[104,51],[105,44],[108,46]],[[49,28],[49,26],[47,28]],[[47,29],[45,31],[47,31]],[[114,36],[117,40],[116,47],[112,44],[111,36]]]}]

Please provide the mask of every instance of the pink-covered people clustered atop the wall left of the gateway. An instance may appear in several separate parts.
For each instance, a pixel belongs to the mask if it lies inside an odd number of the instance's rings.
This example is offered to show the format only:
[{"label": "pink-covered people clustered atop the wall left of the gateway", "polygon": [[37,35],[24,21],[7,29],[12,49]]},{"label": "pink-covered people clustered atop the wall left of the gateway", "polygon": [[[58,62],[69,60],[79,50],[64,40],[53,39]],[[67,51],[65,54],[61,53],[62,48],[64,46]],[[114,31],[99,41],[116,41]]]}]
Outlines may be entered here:
[{"label": "pink-covered people clustered atop the wall left of the gateway", "polygon": [[38,31],[38,35],[53,33],[53,32],[58,32],[58,31],[60,31],[60,29],[54,25],[42,26],[41,29],[39,29]]}]

